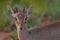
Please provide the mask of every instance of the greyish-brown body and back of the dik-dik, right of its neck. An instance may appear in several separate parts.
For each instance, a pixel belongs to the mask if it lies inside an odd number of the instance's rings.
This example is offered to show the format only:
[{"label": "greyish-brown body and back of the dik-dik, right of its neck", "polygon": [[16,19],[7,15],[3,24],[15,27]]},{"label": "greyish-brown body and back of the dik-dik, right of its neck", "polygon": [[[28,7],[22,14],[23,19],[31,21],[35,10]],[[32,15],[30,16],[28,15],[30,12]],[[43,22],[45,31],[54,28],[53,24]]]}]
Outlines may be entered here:
[{"label": "greyish-brown body and back of the dik-dik, right of its neck", "polygon": [[[57,26],[58,25],[58,26]],[[56,22],[41,28],[29,30],[29,40],[60,40],[60,23]]]}]

